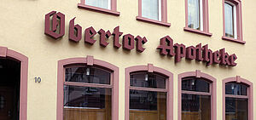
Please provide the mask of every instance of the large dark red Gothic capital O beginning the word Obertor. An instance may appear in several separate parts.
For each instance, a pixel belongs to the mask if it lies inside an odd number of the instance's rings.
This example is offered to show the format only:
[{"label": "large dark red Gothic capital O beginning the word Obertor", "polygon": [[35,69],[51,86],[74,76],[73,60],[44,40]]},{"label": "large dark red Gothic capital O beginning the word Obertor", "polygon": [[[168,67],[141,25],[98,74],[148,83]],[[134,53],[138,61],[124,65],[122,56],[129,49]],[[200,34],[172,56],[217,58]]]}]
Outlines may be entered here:
[{"label": "large dark red Gothic capital O beginning the word Obertor", "polygon": [[[51,16],[52,26],[50,25]],[[55,39],[63,37],[65,34],[65,14],[61,14],[61,12],[56,14],[56,11],[51,11],[49,14],[45,14],[44,34]]]}]

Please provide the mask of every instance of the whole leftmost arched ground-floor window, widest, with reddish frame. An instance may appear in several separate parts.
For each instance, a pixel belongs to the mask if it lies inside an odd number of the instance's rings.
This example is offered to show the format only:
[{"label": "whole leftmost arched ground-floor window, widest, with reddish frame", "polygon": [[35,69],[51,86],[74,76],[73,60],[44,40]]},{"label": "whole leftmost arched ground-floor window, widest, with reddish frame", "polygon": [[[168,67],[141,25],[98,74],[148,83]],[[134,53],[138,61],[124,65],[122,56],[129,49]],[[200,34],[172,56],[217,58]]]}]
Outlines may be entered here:
[{"label": "whole leftmost arched ground-floor window, widest, with reddish frame", "polygon": [[63,92],[58,93],[62,98],[58,98],[58,102],[62,104],[58,106],[57,112],[61,114],[57,115],[57,120],[116,119],[118,68],[90,56],[81,60],[73,59],[74,63],[68,63],[68,60],[59,62],[59,65],[65,61],[68,64],[61,64],[63,71],[60,72],[62,77],[59,82]]}]

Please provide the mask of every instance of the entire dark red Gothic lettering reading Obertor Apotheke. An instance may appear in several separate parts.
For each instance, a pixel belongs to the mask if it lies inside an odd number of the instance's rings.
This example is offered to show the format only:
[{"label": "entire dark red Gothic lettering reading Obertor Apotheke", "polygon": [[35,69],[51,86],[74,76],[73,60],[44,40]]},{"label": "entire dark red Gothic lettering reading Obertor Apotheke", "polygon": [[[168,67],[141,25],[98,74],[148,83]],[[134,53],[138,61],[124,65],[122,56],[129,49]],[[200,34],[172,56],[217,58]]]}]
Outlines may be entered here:
[{"label": "entire dark red Gothic lettering reading Obertor Apotheke", "polygon": [[[69,21],[69,34],[68,39],[75,43],[79,43],[82,39],[82,26],[74,23],[75,18]],[[58,39],[63,37],[65,34],[65,14],[61,12],[56,13],[52,11],[49,14],[45,14],[45,25],[44,25],[44,34],[49,37]],[[93,45],[96,42],[94,37],[98,34],[100,36],[100,45],[102,47],[108,46],[108,38],[113,36],[113,47],[119,49],[121,46],[123,49],[131,50],[136,49],[137,52],[143,53],[145,48],[143,44],[147,43],[148,40],[146,37],[134,37],[131,34],[125,34],[122,39],[122,43],[119,43],[119,37],[123,35],[123,32],[119,31],[119,26],[116,26],[111,31],[104,31],[100,29],[96,31],[92,26],[84,30],[84,43],[89,43]],[[166,36],[160,39],[160,45],[157,47],[160,50],[161,55],[174,56],[175,62],[179,62],[182,58],[187,60],[198,60],[207,63],[207,66],[212,64],[220,64],[223,66],[236,66],[236,54],[228,54],[225,52],[225,49],[219,49],[217,51],[212,51],[208,49],[208,44],[202,46],[201,43],[194,46],[186,47],[183,43],[173,43],[171,37]]]}]

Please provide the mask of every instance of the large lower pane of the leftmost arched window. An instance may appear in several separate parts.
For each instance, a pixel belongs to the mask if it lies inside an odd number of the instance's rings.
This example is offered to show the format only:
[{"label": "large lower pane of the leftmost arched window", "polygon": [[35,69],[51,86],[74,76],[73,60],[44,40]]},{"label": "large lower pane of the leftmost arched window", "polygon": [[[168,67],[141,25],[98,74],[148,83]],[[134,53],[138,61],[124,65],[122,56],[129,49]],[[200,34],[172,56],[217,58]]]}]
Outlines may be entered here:
[{"label": "large lower pane of the leftmost arched window", "polygon": [[64,86],[64,120],[111,120],[111,89]]}]

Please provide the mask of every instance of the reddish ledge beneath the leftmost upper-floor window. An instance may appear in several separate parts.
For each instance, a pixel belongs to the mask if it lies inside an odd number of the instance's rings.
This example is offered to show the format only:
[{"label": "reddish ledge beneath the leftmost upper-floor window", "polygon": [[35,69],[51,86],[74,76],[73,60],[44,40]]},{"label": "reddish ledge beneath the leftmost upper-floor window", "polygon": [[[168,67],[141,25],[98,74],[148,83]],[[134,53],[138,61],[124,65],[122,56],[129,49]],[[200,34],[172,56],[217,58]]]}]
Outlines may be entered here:
[{"label": "reddish ledge beneath the leftmost upper-floor window", "polygon": [[120,15],[120,13],[117,12],[117,11],[113,11],[113,10],[109,10],[109,9],[97,8],[97,7],[85,5],[85,4],[82,4],[82,3],[79,3],[78,7],[80,9],[88,9],[88,10],[100,12],[100,13],[103,13],[103,14],[111,14],[111,15],[115,15],[115,16],[119,16]]}]

